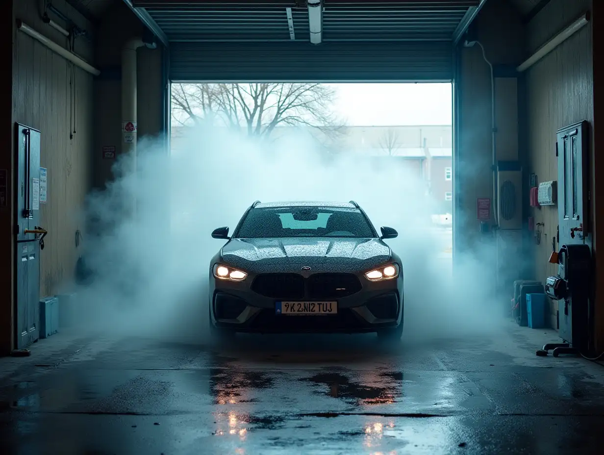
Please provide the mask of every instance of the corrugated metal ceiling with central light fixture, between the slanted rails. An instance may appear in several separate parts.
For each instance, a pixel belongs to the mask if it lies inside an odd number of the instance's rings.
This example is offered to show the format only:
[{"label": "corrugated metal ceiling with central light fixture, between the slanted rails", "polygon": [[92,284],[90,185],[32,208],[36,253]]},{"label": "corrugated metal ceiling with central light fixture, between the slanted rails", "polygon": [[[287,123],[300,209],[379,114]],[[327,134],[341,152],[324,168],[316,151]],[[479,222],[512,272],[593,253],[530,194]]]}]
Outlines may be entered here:
[{"label": "corrugated metal ceiling with central light fixture, between the slanted rails", "polygon": [[[306,0],[159,1],[136,0],[171,42],[289,41],[286,8],[294,39],[309,41]],[[325,0],[324,41],[451,40],[478,0]]]}]

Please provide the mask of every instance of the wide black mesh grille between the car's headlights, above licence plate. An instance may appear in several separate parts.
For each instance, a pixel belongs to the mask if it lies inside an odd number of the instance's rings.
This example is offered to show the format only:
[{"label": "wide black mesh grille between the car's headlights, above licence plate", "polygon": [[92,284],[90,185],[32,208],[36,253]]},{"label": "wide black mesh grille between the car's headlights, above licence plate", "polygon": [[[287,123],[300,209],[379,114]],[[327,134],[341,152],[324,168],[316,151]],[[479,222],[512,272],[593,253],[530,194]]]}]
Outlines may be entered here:
[{"label": "wide black mesh grille between the car's headlights, above licence plate", "polygon": [[295,273],[267,273],[252,283],[252,291],[260,295],[294,300],[347,297],[361,288],[359,279],[350,273],[318,273],[307,279]]}]

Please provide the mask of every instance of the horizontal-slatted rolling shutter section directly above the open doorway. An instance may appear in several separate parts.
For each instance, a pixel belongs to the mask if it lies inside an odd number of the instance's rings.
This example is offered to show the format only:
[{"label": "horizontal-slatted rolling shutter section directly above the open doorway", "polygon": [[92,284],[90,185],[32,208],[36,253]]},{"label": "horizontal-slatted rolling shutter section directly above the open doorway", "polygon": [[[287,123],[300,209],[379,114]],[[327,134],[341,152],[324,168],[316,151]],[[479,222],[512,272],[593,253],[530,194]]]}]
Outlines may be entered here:
[{"label": "horizontal-slatted rolling shutter section directly above the open doorway", "polygon": [[448,41],[173,42],[173,82],[446,82]]}]

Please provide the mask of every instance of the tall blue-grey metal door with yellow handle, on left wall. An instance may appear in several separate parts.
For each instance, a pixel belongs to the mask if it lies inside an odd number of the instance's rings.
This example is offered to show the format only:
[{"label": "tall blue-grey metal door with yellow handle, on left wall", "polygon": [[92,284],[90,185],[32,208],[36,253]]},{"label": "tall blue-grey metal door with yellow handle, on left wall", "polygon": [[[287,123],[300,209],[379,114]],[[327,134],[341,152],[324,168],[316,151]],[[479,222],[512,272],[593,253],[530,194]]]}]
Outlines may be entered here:
[{"label": "tall blue-grey metal door with yellow handle, on left wall", "polygon": [[17,286],[16,345],[29,346],[39,338],[40,245],[45,230],[40,218],[40,132],[16,124],[17,153]]}]

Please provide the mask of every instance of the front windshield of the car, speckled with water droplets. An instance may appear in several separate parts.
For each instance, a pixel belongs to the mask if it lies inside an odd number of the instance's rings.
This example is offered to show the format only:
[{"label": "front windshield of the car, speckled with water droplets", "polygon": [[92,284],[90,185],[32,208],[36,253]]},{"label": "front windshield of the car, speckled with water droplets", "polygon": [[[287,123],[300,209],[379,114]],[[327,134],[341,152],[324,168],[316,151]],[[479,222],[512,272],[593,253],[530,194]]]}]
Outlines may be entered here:
[{"label": "front windshield of the car, speckled with water droplets", "polygon": [[375,233],[357,208],[252,208],[243,219],[240,239],[283,237],[371,238]]}]

